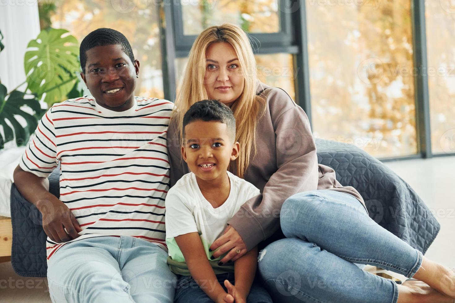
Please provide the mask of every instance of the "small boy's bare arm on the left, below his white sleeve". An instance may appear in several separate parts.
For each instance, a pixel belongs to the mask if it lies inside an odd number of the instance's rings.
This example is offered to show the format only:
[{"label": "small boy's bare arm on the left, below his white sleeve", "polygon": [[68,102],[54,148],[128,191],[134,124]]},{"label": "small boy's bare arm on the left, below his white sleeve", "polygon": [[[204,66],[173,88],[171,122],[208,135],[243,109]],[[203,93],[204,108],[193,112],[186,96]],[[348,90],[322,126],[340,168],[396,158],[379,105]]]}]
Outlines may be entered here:
[{"label": "small boy's bare arm on the left, below his white sleeve", "polygon": [[208,262],[201,238],[197,232],[186,233],[174,237],[178,248],[182,251],[188,269],[197,285],[215,302],[233,302],[226,300],[229,296],[218,282],[212,266]]}]

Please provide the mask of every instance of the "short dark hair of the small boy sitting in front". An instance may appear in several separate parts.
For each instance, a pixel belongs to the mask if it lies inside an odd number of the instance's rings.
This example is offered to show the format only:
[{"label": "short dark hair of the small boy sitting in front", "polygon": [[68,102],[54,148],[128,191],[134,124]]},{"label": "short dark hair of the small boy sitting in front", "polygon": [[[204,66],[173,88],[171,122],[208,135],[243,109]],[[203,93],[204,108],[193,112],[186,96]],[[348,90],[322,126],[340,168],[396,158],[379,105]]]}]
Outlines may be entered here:
[{"label": "short dark hair of the small boy sitting in front", "polygon": [[183,138],[185,138],[185,126],[193,121],[218,121],[227,125],[227,131],[232,142],[235,141],[235,117],[232,110],[218,100],[207,99],[191,105],[183,116]]}]

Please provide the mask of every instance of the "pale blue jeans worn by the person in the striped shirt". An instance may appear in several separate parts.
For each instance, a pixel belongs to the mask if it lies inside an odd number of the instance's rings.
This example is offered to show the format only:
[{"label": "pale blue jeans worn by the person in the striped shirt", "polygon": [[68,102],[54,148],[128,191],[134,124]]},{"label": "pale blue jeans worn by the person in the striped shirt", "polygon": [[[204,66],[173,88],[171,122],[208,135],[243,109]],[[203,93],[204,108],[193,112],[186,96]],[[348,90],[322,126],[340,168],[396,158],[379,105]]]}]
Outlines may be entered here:
[{"label": "pale blue jeans worn by the person in the striped shirt", "polygon": [[133,237],[67,243],[48,261],[52,302],[172,303],[177,281],[157,245]]}]

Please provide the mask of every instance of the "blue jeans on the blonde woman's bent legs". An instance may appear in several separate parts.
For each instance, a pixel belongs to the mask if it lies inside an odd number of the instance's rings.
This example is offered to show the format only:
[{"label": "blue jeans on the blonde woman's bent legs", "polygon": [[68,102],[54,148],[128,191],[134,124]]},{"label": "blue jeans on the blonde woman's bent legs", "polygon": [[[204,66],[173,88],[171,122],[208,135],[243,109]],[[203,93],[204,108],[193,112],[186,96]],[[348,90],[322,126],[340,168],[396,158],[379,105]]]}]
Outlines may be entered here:
[{"label": "blue jeans on the blonde woman's bent legs", "polygon": [[346,193],[316,190],[288,198],[280,212],[286,238],[259,253],[259,272],[274,302],[396,303],[392,280],[371,264],[412,277],[422,253],[370,219]]}]

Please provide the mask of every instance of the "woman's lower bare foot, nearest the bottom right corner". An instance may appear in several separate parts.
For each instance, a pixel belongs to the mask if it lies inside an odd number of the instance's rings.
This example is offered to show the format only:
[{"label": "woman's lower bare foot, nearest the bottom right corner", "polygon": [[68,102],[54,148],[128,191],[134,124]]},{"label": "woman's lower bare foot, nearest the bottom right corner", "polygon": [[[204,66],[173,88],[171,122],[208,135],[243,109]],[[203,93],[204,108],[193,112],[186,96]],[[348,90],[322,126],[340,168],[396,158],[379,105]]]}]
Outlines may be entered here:
[{"label": "woman's lower bare foot, nearest the bottom right corner", "polygon": [[397,303],[454,303],[454,299],[422,281],[406,281],[398,285]]}]

